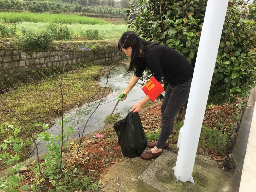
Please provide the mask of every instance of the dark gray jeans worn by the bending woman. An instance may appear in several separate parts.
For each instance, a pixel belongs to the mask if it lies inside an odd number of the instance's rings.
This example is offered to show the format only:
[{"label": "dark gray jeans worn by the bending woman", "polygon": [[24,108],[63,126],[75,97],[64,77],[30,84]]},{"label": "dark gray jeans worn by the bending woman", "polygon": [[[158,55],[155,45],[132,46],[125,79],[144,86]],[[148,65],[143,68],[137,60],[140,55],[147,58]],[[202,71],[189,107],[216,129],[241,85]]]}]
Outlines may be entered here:
[{"label": "dark gray jeans worn by the bending woman", "polygon": [[166,141],[171,135],[175,117],[185,102],[188,100],[191,82],[192,78],[187,82],[177,86],[170,86],[168,84],[164,95],[164,101],[161,106],[162,127],[156,144],[157,148],[164,148]]}]

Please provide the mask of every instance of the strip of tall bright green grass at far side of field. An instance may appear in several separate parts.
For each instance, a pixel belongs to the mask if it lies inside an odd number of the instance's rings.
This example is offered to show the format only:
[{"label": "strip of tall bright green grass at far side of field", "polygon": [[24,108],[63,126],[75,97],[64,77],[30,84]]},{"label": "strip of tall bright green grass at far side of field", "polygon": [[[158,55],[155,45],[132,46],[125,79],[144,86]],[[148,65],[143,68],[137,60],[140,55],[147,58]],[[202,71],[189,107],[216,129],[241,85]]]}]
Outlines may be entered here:
[{"label": "strip of tall bright green grass at far side of field", "polygon": [[79,15],[64,15],[64,14],[48,14],[48,13],[19,13],[19,12],[0,12],[0,20],[4,20],[7,23],[18,23],[22,21],[28,22],[56,22],[65,24],[104,24],[103,19],[83,17]]}]

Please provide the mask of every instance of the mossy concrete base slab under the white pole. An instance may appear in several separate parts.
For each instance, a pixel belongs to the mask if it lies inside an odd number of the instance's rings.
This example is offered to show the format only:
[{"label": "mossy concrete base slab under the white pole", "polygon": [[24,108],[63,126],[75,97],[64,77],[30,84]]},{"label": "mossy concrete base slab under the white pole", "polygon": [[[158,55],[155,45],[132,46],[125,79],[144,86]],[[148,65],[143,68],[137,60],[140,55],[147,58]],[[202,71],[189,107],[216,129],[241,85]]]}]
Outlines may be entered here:
[{"label": "mossy concrete base slab under the white pole", "polygon": [[172,170],[176,164],[176,159],[177,154],[164,150],[163,155],[154,161],[138,178],[138,191],[227,192],[229,190],[227,186],[230,177],[227,172],[198,159],[193,170],[195,185],[177,182]]}]

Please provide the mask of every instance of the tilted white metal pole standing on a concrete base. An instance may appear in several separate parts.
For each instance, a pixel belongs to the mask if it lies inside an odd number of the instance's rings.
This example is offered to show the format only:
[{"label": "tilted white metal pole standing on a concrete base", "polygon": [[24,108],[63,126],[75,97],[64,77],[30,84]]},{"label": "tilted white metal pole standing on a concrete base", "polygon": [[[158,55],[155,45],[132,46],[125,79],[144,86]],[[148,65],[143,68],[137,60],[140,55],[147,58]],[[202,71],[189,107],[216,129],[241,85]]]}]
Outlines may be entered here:
[{"label": "tilted white metal pole standing on a concrete base", "polygon": [[228,0],[208,0],[176,166],[177,181],[190,181],[218,54]]}]

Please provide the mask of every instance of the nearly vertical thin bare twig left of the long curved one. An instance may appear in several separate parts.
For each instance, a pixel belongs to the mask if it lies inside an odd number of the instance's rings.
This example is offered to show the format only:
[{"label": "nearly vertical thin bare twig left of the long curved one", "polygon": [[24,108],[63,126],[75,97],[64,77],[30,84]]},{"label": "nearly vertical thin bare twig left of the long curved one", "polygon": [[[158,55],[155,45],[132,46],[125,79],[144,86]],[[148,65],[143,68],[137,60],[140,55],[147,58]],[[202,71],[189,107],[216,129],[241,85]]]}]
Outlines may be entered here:
[{"label": "nearly vertical thin bare twig left of the long curved one", "polygon": [[[60,30],[61,30],[61,36],[62,36],[62,41],[63,41],[63,44],[64,44],[64,40],[63,40],[63,34],[62,34],[62,27],[61,27],[61,24],[60,24]],[[64,97],[63,97],[63,91],[62,91],[62,83],[63,83],[63,77],[64,77],[64,73],[65,73],[65,68],[66,68],[66,65],[65,65],[65,61],[66,61],[66,54],[65,54],[65,51],[64,51],[64,63],[63,63],[63,73],[62,73],[62,77],[61,77],[61,81],[60,81],[60,92],[61,92],[61,97],[62,97],[62,110],[61,110],[61,114],[62,114],[62,124],[61,124],[61,149],[60,149],[60,170],[59,170],[59,175],[58,175],[58,180],[57,180],[57,183],[59,183],[59,179],[60,179],[60,172],[61,172],[61,165],[62,165],[62,148],[63,148],[63,108],[64,108]]]}]

